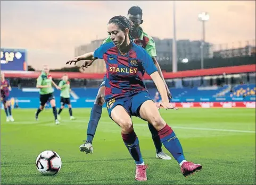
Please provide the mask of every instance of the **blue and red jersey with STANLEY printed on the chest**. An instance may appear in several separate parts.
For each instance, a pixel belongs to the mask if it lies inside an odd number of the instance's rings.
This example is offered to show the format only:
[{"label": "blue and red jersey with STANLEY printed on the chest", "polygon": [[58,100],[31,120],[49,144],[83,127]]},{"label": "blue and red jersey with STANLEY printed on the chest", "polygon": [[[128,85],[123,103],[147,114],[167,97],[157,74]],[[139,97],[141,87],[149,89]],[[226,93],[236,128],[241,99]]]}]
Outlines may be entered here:
[{"label": "blue and red jersey with STANLEY printed on the chest", "polygon": [[113,42],[104,43],[94,51],[94,58],[104,59],[106,63],[106,101],[147,91],[143,82],[145,72],[151,75],[158,71],[146,50],[134,42],[131,42],[125,56],[120,54]]}]

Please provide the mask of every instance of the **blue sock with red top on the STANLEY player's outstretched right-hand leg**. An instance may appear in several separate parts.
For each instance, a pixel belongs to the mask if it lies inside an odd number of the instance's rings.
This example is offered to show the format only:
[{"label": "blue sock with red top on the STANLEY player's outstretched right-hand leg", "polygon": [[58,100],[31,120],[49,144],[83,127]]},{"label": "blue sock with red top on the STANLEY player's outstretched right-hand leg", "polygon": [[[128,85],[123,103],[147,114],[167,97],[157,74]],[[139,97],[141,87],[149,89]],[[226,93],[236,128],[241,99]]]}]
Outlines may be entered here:
[{"label": "blue sock with red top on the STANLEY player's outstretched right-hand leg", "polygon": [[185,161],[182,146],[174,131],[166,124],[158,131],[160,139],[166,149],[174,156],[175,160],[180,164]]}]

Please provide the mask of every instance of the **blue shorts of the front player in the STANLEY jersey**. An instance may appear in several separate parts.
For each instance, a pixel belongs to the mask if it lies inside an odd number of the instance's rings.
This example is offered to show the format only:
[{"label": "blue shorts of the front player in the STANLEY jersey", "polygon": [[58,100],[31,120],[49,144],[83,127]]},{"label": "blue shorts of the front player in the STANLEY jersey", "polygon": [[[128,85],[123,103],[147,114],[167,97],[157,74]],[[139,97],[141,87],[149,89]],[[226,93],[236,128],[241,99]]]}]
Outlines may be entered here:
[{"label": "blue shorts of the front player in the STANLEY jersey", "polygon": [[150,98],[150,95],[146,91],[141,91],[131,96],[126,96],[118,99],[111,99],[106,102],[106,108],[108,109],[109,117],[111,119],[111,111],[117,105],[121,105],[123,108],[125,108],[125,110],[128,112],[130,116],[140,117],[139,109],[141,108],[141,105],[147,100],[152,100]]}]

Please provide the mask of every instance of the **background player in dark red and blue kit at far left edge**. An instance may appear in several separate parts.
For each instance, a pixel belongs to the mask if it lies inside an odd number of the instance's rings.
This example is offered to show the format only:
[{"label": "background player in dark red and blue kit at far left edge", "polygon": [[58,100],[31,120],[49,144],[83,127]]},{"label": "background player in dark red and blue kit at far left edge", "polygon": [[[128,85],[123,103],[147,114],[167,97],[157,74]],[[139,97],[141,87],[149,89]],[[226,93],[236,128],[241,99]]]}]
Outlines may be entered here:
[{"label": "background player in dark red and blue kit at far left edge", "polygon": [[4,73],[1,73],[1,101],[4,104],[4,111],[6,114],[6,121],[14,121],[12,117],[12,108],[10,104],[9,94],[12,90],[10,82],[5,79]]}]

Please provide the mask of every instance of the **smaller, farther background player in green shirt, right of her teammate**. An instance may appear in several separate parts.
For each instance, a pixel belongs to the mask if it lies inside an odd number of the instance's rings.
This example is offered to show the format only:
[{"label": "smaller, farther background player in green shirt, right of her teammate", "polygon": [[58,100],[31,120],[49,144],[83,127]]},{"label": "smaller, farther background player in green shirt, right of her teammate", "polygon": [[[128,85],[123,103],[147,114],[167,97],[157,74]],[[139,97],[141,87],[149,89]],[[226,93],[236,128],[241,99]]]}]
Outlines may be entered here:
[{"label": "smaller, farther background player in green shirt, right of her teammate", "polygon": [[62,81],[59,83],[59,87],[61,89],[61,108],[59,109],[59,112],[57,114],[57,119],[61,120],[60,113],[64,109],[65,104],[68,104],[69,107],[69,115],[70,115],[70,120],[74,120],[75,117],[72,115],[72,107],[70,103],[70,82],[68,81],[69,77],[67,74],[64,74],[62,76]]}]

